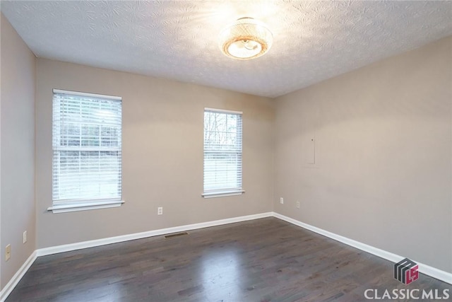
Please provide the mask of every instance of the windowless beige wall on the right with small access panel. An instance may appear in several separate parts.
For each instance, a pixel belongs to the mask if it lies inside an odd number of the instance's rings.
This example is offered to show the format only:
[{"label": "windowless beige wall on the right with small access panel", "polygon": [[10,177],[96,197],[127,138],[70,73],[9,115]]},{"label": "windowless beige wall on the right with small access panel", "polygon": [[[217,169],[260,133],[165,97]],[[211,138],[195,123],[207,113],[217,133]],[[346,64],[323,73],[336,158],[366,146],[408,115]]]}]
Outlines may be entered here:
[{"label": "windowless beige wall on the right with small access panel", "polygon": [[451,51],[449,37],[278,98],[275,211],[452,272]]}]

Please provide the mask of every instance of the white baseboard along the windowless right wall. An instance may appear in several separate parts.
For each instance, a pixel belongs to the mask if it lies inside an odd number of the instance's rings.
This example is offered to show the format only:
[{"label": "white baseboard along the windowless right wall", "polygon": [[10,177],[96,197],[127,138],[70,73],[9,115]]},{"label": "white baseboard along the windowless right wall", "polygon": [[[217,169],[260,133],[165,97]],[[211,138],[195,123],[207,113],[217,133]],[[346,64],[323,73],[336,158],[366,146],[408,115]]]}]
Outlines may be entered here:
[{"label": "white baseboard along the windowless right wall", "polygon": [[[318,233],[320,235],[326,236],[328,238],[337,240],[341,243],[345,243],[346,245],[350,245],[353,248],[357,248],[359,250],[364,250],[364,252],[369,252],[372,255],[376,255],[378,257],[381,257],[383,259],[389,260],[391,262],[397,263],[400,260],[403,260],[405,257],[400,256],[400,255],[396,255],[392,252],[388,252],[386,250],[381,250],[379,248],[375,248],[371,245],[367,245],[365,243],[360,243],[359,241],[356,240],[352,240],[350,238],[344,237],[344,236],[340,236],[338,234],[335,233],[331,233],[329,231],[325,231],[321,228],[317,228],[316,226],[311,226],[307,223],[301,222],[301,221],[297,221],[296,219],[292,219],[290,217],[278,214],[273,212],[273,216],[287,221],[289,223],[295,224],[295,226],[300,226],[302,228],[306,228],[309,231],[313,231],[314,233]],[[415,259],[412,259],[412,261],[416,262],[417,265],[419,265],[419,271],[422,272],[422,274],[427,274],[430,277],[434,277],[435,279],[439,279],[441,281],[444,281],[448,284],[452,284],[452,274],[449,272],[444,272],[441,269],[436,269],[434,267],[431,267],[429,265],[424,265],[418,261],[416,261]]]}]

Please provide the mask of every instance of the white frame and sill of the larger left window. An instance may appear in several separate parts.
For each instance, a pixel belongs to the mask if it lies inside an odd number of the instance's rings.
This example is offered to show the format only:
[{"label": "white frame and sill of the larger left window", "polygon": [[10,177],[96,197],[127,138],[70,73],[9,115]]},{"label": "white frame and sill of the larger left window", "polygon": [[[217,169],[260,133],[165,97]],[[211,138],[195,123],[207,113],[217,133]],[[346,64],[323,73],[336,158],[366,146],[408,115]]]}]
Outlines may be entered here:
[{"label": "white frame and sill of the larger left window", "polygon": [[[54,132],[55,128],[55,117],[56,113],[54,112],[55,108],[55,95],[71,95],[71,96],[79,96],[79,97],[88,97],[88,98],[98,98],[98,99],[104,99],[104,100],[112,100],[112,101],[118,101],[120,103],[120,112],[119,112],[119,134],[117,134],[117,137],[119,137],[119,146],[112,146],[111,149],[103,149],[102,152],[117,152],[119,151],[119,182],[118,185],[122,187],[122,98],[119,96],[113,96],[113,95],[101,95],[101,94],[95,94],[95,93],[83,93],[78,91],[66,91],[61,89],[53,89],[52,91],[52,207],[47,208],[47,211],[52,211],[53,213],[64,213],[64,212],[70,212],[70,211],[85,211],[85,210],[91,210],[91,209],[105,209],[105,208],[112,208],[112,207],[121,207],[122,204],[124,204],[124,200],[122,200],[122,188],[119,188],[119,197],[112,197],[112,198],[89,198],[89,197],[81,197],[81,198],[74,198],[74,199],[54,199],[54,156],[57,151],[61,152],[64,151],[64,148],[62,146],[59,146],[58,150],[54,146],[54,141],[57,139],[61,139],[61,137],[56,138]],[[83,125],[82,122],[79,123],[79,125]],[[58,130],[61,130],[59,127]],[[100,134],[102,135],[102,134]],[[100,136],[101,139],[101,136]],[[84,149],[85,148],[85,149]],[[100,149],[100,147],[97,147],[97,149]],[[115,149],[115,150],[114,150]],[[79,152],[86,152],[90,151],[89,148],[87,150],[87,146],[79,146],[79,148],[73,148],[73,151],[79,151]],[[100,151],[100,150],[99,150]],[[80,161],[80,158],[78,159]]]}]

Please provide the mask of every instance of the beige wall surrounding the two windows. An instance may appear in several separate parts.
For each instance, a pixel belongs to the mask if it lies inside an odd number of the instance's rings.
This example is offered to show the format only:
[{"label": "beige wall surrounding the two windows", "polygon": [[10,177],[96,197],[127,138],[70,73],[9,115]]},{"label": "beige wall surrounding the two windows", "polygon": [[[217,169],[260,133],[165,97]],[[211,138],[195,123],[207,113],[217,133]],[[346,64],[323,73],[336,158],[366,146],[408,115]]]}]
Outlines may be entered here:
[{"label": "beige wall surrounding the two windows", "polygon": [[[52,214],[52,88],[119,95],[122,207]],[[272,100],[37,59],[37,248],[273,209]],[[241,196],[203,199],[203,108],[243,111]],[[157,207],[163,215],[157,216]]]}]

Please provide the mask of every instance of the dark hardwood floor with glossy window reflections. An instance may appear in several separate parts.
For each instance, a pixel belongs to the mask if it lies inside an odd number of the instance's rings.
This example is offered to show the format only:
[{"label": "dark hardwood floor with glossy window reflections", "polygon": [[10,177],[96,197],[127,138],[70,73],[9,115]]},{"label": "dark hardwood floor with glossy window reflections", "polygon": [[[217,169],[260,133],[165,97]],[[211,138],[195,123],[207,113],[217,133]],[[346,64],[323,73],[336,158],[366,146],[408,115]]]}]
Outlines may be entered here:
[{"label": "dark hardwood floor with glossy window reflections", "polygon": [[266,218],[38,257],[6,301],[365,301],[366,289],[452,294],[424,274],[401,284],[392,262]]}]

